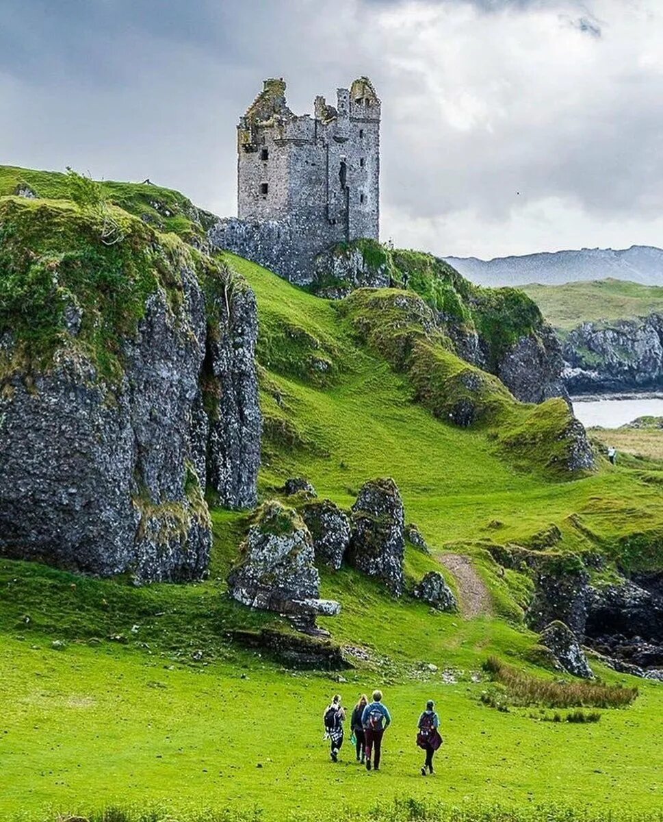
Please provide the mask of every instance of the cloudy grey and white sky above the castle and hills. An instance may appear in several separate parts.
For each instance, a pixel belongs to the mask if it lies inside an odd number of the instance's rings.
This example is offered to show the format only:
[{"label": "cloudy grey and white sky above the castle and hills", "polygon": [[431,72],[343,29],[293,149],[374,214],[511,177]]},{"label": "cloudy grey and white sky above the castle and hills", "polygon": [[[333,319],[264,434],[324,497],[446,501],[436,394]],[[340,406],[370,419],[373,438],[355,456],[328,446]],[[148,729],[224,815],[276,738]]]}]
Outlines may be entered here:
[{"label": "cloudy grey and white sky above the castle and hills", "polygon": [[0,0],[0,163],[235,214],[235,124],[368,74],[382,238],[441,255],[663,246],[663,0]]}]

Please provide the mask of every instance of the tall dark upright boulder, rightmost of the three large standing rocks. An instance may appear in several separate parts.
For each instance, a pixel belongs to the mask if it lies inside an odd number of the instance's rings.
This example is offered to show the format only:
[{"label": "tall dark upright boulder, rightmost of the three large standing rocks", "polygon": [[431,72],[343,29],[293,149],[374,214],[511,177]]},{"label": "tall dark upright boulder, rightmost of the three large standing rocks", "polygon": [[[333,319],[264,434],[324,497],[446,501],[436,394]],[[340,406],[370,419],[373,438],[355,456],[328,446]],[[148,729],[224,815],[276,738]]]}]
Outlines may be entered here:
[{"label": "tall dark upright boulder, rightmost of the three large standing rocks", "polygon": [[405,515],[391,478],[373,479],[359,491],[352,506],[350,565],[382,580],[396,596],[403,591]]}]

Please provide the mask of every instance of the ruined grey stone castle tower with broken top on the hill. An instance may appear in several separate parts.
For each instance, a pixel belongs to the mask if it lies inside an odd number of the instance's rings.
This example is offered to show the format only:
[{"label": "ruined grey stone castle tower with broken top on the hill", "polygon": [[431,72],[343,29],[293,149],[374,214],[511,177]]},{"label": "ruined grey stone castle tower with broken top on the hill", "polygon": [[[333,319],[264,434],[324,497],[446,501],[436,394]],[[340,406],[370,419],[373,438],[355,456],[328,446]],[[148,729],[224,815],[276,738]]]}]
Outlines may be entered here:
[{"label": "ruined grey stone castle tower with broken top on the hill", "polygon": [[380,100],[367,77],[317,97],[313,117],[286,103],[282,79],[264,88],[237,126],[237,218],[213,229],[227,248],[304,285],[315,258],[338,242],[378,238]]}]

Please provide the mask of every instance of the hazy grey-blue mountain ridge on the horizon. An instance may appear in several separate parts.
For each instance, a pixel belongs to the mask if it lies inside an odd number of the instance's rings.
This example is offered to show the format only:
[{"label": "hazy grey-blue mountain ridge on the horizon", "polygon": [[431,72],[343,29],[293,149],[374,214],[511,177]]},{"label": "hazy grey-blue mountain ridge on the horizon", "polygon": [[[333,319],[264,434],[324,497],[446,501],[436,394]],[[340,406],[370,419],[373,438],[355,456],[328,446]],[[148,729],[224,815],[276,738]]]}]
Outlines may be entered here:
[{"label": "hazy grey-blue mountain ridge on the horizon", "polygon": [[462,275],[479,285],[557,285],[577,280],[628,279],[633,283],[663,285],[663,249],[653,246],[582,248],[524,256],[445,257]]}]

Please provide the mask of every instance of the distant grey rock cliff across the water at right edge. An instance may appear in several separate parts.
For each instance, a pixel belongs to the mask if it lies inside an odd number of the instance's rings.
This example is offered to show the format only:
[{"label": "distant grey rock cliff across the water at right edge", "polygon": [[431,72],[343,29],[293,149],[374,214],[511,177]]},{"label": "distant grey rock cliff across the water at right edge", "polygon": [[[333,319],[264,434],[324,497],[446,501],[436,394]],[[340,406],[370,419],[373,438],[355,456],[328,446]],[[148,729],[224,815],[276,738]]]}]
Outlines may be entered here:
[{"label": "distant grey rock cliff across the water at right edge", "polygon": [[564,379],[573,393],[663,386],[663,316],[585,322],[563,349]]}]

